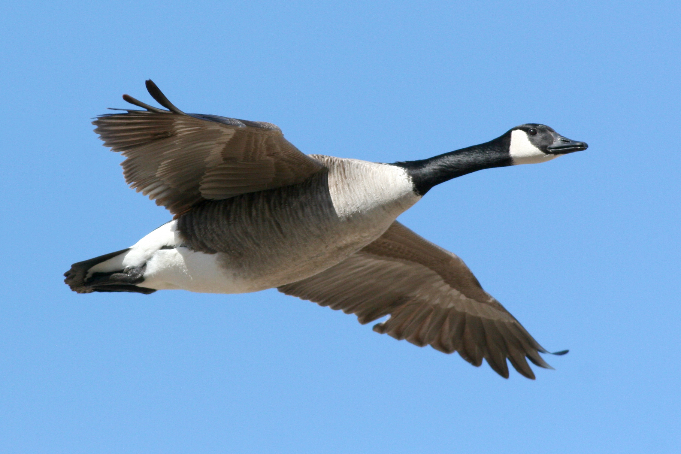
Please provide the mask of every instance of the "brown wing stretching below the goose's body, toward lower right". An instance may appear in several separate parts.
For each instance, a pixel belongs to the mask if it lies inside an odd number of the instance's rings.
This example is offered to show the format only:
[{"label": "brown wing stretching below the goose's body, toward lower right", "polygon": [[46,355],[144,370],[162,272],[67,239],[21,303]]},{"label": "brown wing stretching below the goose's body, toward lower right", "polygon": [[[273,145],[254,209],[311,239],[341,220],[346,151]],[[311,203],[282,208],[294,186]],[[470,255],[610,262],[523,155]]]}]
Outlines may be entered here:
[{"label": "brown wing stretching below the goose's body, toward lower right", "polygon": [[397,221],[345,261],[279,291],[357,314],[362,324],[390,314],[374,331],[444,353],[458,351],[474,366],[485,358],[505,378],[506,358],[528,378],[535,374],[525,357],[551,368],[538,354],[548,352],[480,287],[460,258]]}]

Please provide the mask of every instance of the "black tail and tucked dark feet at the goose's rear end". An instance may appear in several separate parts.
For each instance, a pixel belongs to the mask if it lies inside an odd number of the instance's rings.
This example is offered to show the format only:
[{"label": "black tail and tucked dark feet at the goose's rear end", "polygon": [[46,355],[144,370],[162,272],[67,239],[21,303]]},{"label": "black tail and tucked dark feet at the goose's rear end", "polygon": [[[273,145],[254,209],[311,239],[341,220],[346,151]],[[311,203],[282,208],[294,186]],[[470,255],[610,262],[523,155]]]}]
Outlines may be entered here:
[{"label": "black tail and tucked dark feet at the goose's rear end", "polygon": [[[146,287],[138,287],[136,285],[144,281],[146,264],[139,267],[121,267],[120,270],[112,272],[90,271],[95,265],[123,255],[128,250],[130,248],[74,263],[71,265],[71,270],[64,273],[64,276],[66,276],[64,282],[76,293],[92,293],[93,291],[131,291],[144,293],[145,295],[154,293],[155,289],[147,289]],[[115,263],[115,261],[112,262]]]}]

